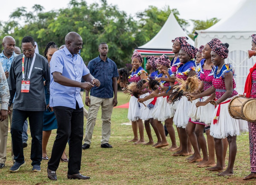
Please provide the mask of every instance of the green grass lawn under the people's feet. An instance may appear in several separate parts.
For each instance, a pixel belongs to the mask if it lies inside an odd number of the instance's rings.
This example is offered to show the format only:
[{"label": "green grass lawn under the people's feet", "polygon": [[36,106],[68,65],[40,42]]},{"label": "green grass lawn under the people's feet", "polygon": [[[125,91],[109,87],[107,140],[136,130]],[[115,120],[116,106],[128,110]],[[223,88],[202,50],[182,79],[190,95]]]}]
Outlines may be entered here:
[{"label": "green grass lawn under the people's feet", "polygon": [[[118,105],[128,101],[128,96],[118,92]],[[215,172],[198,168],[196,163],[190,164],[186,162],[187,157],[172,156],[171,152],[167,150],[168,147],[156,149],[152,146],[127,143],[133,138],[132,127],[130,125],[121,125],[121,123],[129,122],[127,113],[128,109],[113,109],[109,141],[113,148],[105,149],[100,148],[101,110],[99,111],[92,136],[92,144],[90,149],[83,150],[82,154],[80,173],[90,176],[91,179],[89,180],[68,180],[68,164],[60,163],[56,171],[58,181],[51,181],[47,178],[46,160],[42,161],[42,172],[31,172],[31,137],[28,139],[28,147],[24,149],[27,165],[20,168],[20,171],[16,173],[10,173],[8,170],[12,166],[12,160],[11,134],[9,133],[6,166],[0,169],[0,184],[256,184],[256,180],[244,181],[242,179],[250,173],[248,133],[237,137],[235,175],[232,177],[219,177]],[[84,131],[85,126],[86,119],[84,120]],[[153,129],[152,135],[154,135]],[[56,130],[53,130],[47,145],[49,157],[51,157],[55,136]],[[148,142],[146,131],[144,131],[144,136],[146,142]],[[177,133],[176,138],[177,143],[179,143]],[[167,139],[171,143],[170,137]],[[156,141],[156,137],[154,137],[154,141]],[[68,151],[67,146],[67,155]],[[226,158],[227,164],[228,154]]]}]

